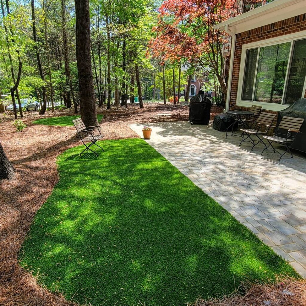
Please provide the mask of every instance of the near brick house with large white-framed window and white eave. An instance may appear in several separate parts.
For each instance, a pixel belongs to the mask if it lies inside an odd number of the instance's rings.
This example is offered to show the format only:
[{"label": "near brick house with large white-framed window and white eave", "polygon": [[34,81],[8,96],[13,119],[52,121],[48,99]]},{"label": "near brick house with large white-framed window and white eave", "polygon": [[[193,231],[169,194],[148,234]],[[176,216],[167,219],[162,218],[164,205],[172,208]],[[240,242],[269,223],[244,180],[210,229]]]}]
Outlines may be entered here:
[{"label": "near brick house with large white-framed window and white eave", "polygon": [[306,97],[306,0],[275,0],[214,28],[232,37],[226,111],[276,113]]}]

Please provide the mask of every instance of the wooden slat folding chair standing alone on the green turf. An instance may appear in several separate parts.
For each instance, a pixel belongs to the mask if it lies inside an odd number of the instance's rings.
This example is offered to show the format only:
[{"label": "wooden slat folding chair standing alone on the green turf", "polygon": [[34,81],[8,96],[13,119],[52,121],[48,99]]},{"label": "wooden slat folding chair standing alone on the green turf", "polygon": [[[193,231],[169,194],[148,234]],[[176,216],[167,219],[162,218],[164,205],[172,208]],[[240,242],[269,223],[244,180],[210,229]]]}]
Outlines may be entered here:
[{"label": "wooden slat folding chair standing alone on the green turf", "polygon": [[[104,135],[101,134],[102,129],[101,129],[100,125],[86,127],[81,118],[73,120],[72,123],[73,123],[74,127],[76,128],[76,133],[79,135],[81,141],[83,142],[83,144],[85,146],[85,149],[80,153],[80,156],[85,150],[86,151],[90,150],[91,152],[95,153],[95,155],[98,156],[98,154],[95,151],[92,151],[91,148],[90,148],[94,144],[97,147],[101,148],[104,152],[103,147],[100,147],[98,144],[96,144],[96,142],[98,140],[100,140],[104,137]],[[94,128],[98,129],[99,135],[95,135],[94,130],[93,130]],[[89,141],[90,141],[90,144],[87,145],[86,142],[89,142]]]}]

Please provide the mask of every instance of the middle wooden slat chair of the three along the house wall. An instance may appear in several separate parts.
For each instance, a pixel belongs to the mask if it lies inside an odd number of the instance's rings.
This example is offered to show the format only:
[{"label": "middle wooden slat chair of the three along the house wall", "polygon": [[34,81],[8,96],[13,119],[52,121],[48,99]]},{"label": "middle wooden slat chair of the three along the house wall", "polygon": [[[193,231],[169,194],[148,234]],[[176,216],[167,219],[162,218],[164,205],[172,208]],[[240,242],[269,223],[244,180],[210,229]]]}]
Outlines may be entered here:
[{"label": "middle wooden slat chair of the three along the house wall", "polygon": [[[257,146],[257,144],[260,144],[260,143],[262,143],[265,147],[267,147],[266,144],[263,142],[263,139],[260,138],[259,136],[265,135],[267,133],[267,128],[268,128],[268,126],[271,126],[275,117],[276,117],[276,114],[270,114],[270,113],[265,113],[265,112],[260,113],[260,115],[258,116],[255,123],[252,124],[252,125],[254,125],[254,129],[244,128],[248,121],[253,122],[253,120],[245,119],[243,121],[242,129],[240,129],[242,131],[242,140],[241,140],[241,143],[239,144],[239,146],[241,146],[241,144],[244,141],[247,141],[247,142],[251,142],[253,144],[253,147],[252,147],[251,151],[254,149],[255,146]],[[244,138],[244,135],[247,135],[247,137]],[[259,141],[255,143],[252,136],[256,136]]]}]

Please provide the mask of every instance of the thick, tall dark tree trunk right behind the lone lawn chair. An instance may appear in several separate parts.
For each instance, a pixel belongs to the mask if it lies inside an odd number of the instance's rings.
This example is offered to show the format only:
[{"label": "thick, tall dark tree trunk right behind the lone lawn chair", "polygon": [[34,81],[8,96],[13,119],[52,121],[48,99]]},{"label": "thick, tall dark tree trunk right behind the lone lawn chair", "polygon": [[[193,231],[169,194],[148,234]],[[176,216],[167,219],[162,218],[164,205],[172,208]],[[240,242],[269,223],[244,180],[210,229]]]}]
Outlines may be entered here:
[{"label": "thick, tall dark tree trunk right behind the lone lawn chair", "polygon": [[98,125],[90,56],[89,0],[76,0],[76,63],[80,85],[81,118],[86,127]]}]

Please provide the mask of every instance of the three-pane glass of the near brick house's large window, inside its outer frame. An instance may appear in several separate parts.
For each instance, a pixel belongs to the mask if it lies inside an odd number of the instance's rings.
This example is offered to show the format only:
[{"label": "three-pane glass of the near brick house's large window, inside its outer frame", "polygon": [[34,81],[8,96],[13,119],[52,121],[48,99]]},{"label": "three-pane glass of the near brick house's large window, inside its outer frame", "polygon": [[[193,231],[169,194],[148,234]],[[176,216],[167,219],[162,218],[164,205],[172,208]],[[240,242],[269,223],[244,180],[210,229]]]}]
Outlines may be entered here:
[{"label": "three-pane glass of the near brick house's large window, inside its outer frame", "polygon": [[292,104],[304,97],[306,39],[246,49],[243,73],[241,100]]}]

